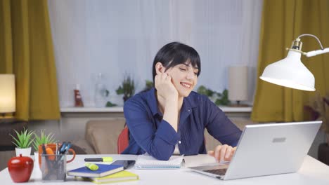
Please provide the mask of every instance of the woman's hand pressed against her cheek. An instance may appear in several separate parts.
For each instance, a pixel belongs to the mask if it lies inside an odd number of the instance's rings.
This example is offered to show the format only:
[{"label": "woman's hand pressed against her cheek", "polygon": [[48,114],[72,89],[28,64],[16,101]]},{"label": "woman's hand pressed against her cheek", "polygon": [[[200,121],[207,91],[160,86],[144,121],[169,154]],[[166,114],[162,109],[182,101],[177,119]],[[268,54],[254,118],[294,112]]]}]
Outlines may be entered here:
[{"label": "woman's hand pressed against her cheek", "polygon": [[155,75],[155,88],[157,95],[164,98],[165,101],[176,100],[178,97],[178,92],[172,83],[172,77],[167,73]]}]

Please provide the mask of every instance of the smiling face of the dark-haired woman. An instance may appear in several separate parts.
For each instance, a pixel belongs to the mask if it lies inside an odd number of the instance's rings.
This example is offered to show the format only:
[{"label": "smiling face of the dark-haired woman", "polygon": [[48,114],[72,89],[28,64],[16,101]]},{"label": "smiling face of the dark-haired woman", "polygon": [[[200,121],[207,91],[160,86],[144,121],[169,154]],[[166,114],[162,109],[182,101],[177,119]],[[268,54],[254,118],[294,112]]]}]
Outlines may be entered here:
[{"label": "smiling face of the dark-haired woman", "polygon": [[190,62],[178,64],[165,71],[172,76],[172,83],[181,97],[187,97],[198,83],[198,67],[193,67]]}]

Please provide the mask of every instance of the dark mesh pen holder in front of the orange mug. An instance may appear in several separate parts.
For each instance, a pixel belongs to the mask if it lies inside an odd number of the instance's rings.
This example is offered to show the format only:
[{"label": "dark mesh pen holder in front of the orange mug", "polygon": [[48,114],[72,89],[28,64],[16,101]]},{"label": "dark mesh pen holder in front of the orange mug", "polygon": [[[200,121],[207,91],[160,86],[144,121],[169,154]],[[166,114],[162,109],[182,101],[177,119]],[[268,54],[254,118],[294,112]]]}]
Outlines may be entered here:
[{"label": "dark mesh pen holder in front of the orange mug", "polygon": [[42,181],[65,181],[66,154],[41,154]]}]

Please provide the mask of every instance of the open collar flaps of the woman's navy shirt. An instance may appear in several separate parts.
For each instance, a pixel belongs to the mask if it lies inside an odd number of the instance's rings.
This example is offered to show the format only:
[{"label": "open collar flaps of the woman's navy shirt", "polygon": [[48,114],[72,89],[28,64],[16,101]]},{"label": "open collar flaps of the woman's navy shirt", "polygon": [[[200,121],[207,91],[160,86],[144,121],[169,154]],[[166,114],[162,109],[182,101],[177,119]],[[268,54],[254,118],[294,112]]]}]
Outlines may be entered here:
[{"label": "open collar flaps of the woman's navy shirt", "polygon": [[[150,111],[152,112],[152,115],[155,116],[156,114],[158,114],[159,116],[162,116],[162,113],[160,112],[160,110],[157,107],[157,97],[155,95],[155,88],[151,88],[148,92],[147,92],[147,98],[146,101],[148,102],[148,105],[150,106]],[[183,99],[183,105],[181,107],[181,110],[186,110],[189,108],[194,108],[197,107],[197,103],[195,102],[195,93],[191,92],[190,95],[188,95],[188,97],[184,97]]]}]

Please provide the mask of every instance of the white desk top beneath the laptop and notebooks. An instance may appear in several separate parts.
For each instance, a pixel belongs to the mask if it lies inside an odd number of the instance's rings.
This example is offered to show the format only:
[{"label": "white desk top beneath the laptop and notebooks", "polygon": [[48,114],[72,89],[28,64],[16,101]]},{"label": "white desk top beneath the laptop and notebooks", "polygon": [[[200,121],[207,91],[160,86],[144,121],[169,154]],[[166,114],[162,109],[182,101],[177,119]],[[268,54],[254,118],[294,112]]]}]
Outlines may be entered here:
[{"label": "white desk top beneath the laptop and notebooks", "polygon": [[[96,158],[105,155],[77,155],[77,158],[72,163],[67,164],[67,170],[75,169],[84,165],[84,158]],[[112,156],[114,160],[120,159],[136,159],[134,155],[106,155]],[[70,156],[67,156],[70,158]],[[214,163],[214,159],[207,155],[198,156],[186,156],[186,167],[193,165],[200,165],[202,163]],[[38,167],[38,166],[35,166]],[[329,167],[319,162],[318,160],[307,156],[301,169],[297,173],[291,174],[279,174],[265,177],[254,177],[248,179],[237,179],[230,181],[221,181],[212,177],[207,177],[203,174],[191,172],[186,167],[180,170],[135,170],[134,168],[128,171],[134,172],[139,175],[138,181],[125,181],[117,184],[314,184],[321,185],[329,184]],[[1,184],[13,184],[11,177],[8,173],[8,169],[4,169],[0,172]],[[41,181],[41,172],[35,168],[32,172],[30,181],[25,184],[63,184],[63,182],[46,182]],[[68,176],[65,184],[93,184],[88,181],[75,181],[73,177]]]}]

